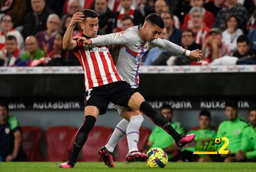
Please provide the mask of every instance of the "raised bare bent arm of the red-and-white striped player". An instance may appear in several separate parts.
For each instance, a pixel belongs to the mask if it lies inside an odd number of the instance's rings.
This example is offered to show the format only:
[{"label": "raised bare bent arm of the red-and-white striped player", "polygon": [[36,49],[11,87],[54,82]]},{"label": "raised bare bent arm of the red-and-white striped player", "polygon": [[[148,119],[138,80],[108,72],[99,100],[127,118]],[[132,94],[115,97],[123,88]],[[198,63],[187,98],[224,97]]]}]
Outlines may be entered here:
[{"label": "raised bare bent arm of the red-and-white striped player", "polygon": [[76,40],[72,39],[73,29],[76,25],[76,22],[82,22],[84,20],[84,14],[82,12],[77,12],[72,16],[71,22],[68,25],[68,28],[63,37],[62,47],[64,50],[72,50],[76,47]]}]

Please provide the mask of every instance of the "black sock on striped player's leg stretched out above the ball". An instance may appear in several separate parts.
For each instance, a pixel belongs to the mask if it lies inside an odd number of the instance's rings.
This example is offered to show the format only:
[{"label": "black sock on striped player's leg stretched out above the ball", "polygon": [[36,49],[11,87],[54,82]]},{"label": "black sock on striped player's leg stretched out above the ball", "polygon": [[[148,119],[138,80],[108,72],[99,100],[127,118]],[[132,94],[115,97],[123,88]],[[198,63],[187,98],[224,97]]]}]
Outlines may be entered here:
[{"label": "black sock on striped player's leg stretched out above the ball", "polygon": [[180,140],[180,134],[171,126],[170,122],[157,110],[152,108],[147,102],[142,102],[140,105],[140,111],[144,113],[150,120],[152,120],[157,126],[165,130],[168,134],[172,136],[175,142]]}]

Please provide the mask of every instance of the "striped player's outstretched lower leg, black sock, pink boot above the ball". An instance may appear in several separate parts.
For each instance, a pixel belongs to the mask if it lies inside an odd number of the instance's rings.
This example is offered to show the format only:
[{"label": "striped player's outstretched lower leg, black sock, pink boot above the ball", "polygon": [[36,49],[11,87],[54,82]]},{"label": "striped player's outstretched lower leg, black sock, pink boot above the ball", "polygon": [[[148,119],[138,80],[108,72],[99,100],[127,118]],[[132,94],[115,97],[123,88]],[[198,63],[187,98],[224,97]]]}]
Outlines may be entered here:
[{"label": "striped player's outstretched lower leg, black sock, pink boot above the ball", "polygon": [[150,120],[152,120],[157,126],[170,134],[180,148],[184,147],[187,143],[192,142],[196,136],[196,134],[186,136],[176,132],[170,122],[168,122],[160,112],[152,108],[152,106],[147,103],[143,96],[138,92],[132,95],[128,102],[128,106],[130,108],[140,110],[140,112],[148,116],[148,118],[150,118]]}]

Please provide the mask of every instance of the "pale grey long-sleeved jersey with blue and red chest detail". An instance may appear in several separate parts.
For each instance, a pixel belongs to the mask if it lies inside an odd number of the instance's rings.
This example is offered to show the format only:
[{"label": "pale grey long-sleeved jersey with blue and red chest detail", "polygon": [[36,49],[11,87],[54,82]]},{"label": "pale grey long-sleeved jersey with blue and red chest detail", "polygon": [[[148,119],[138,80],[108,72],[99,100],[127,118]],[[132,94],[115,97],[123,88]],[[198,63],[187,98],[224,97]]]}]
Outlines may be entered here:
[{"label": "pale grey long-sleeved jersey with blue and red chest detail", "polygon": [[[92,46],[121,45],[116,69],[133,88],[138,88],[140,61],[149,46],[149,42],[144,42],[140,38],[138,29],[138,26],[134,26],[128,28],[124,34],[114,33],[91,38]],[[181,46],[160,38],[153,40],[150,44],[175,54],[183,54],[185,50]]]}]

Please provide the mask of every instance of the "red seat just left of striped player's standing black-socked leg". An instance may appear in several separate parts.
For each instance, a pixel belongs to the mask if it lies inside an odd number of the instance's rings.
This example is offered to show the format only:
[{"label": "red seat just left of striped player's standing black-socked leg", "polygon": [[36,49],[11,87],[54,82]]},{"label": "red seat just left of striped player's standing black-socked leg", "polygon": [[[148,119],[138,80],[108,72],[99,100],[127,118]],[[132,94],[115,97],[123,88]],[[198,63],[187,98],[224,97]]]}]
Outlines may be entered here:
[{"label": "red seat just left of striped player's standing black-socked leg", "polygon": [[67,161],[74,144],[77,128],[56,126],[46,131],[48,161]]}]

